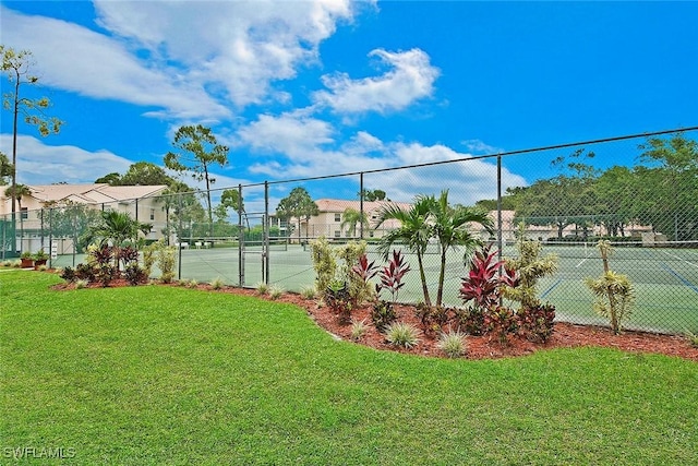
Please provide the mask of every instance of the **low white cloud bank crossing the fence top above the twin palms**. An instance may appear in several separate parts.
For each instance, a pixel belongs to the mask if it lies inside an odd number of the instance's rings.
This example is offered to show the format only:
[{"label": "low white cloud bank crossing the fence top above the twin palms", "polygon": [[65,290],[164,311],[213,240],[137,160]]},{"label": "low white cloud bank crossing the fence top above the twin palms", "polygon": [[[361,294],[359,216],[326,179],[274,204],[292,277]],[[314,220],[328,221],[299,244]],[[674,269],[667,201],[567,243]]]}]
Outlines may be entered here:
[{"label": "low white cloud bank crossing the fence top above the twin palms", "polygon": [[[354,174],[384,168],[461,160],[404,170],[364,175],[366,189],[382,189],[394,201],[411,201],[417,194],[437,194],[448,189],[453,203],[472,204],[496,198],[495,158],[473,158],[445,145],[383,142],[365,131],[346,142],[335,141],[328,123],[304,115],[263,116],[240,131],[242,143],[273,158],[249,169],[272,179],[311,178]],[[261,158],[264,155],[260,155]],[[358,178],[353,177],[353,181]],[[504,168],[503,189],[526,186],[526,180]]]}]

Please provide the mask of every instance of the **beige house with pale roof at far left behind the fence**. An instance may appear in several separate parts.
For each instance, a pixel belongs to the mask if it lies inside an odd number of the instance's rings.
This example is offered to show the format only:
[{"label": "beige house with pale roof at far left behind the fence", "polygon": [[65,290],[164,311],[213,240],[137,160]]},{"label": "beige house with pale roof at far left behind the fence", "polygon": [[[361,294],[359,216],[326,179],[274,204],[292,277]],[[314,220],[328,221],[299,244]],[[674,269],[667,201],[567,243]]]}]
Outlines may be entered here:
[{"label": "beige house with pale roof at far left behind the fence", "polygon": [[[166,214],[157,199],[167,189],[163,184],[119,187],[106,183],[40,184],[27,188],[29,194],[22,196],[15,220],[16,232],[23,237],[22,244],[17,247],[23,251],[35,251],[44,247],[50,210],[61,210],[70,204],[83,204],[99,211],[112,210],[129,213],[139,222],[154,226],[147,236],[148,239],[159,238],[161,236],[159,231],[166,226]],[[10,220],[11,213],[12,200],[5,196],[4,189],[0,189],[0,218]],[[62,250],[67,248],[72,250],[72,242],[63,246]]]}]

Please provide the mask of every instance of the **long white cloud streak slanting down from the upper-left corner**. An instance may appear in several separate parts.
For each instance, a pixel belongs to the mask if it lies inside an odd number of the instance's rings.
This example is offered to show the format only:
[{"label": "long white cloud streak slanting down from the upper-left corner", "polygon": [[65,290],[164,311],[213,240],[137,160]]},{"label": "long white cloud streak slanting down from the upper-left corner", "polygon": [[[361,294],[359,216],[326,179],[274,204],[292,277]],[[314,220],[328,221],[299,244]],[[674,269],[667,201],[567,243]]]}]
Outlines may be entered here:
[{"label": "long white cloud streak slanting down from the upper-left corner", "polygon": [[160,107],[178,118],[229,115],[200,83],[181,80],[168,67],[149,67],[124,44],[94,31],[60,20],[17,14],[5,8],[2,29],[5,45],[32,50],[41,83],[47,86],[94,98]]}]

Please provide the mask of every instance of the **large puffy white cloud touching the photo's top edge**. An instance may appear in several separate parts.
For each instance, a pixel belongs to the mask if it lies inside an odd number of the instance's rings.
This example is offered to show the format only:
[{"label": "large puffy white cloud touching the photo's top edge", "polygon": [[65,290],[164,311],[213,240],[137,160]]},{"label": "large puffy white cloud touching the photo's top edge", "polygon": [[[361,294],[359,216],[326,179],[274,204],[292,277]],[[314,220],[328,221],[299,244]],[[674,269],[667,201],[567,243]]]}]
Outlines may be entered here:
[{"label": "large puffy white cloud touching the photo's top edge", "polygon": [[[317,60],[320,43],[350,22],[350,0],[96,1],[99,24],[155,58],[182,63],[183,79],[225,89],[238,106]],[[280,98],[287,98],[284,94]]]}]

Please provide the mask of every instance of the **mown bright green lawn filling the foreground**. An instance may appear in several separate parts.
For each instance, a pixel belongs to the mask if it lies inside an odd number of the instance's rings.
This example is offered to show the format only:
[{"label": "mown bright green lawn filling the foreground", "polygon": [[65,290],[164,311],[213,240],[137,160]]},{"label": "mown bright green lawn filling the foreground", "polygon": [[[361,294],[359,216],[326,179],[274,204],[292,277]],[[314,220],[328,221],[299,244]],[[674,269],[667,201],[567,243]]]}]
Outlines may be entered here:
[{"label": "mown bright green lawn filling the foreground", "polygon": [[0,271],[2,464],[698,463],[695,362],[425,359],[336,342],[290,304],[58,282]]}]

